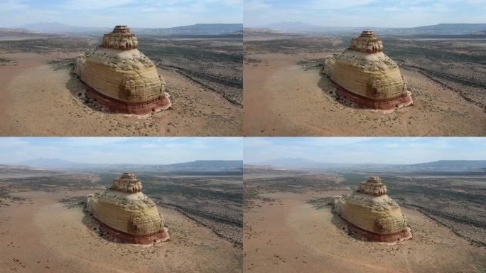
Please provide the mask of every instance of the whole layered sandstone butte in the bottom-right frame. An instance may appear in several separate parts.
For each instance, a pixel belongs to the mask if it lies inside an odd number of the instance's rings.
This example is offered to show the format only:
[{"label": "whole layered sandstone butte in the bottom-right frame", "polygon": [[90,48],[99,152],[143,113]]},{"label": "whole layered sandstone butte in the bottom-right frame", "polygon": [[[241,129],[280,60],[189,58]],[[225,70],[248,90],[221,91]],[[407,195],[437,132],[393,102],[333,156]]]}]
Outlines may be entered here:
[{"label": "whole layered sandstone butte in the bottom-right frame", "polygon": [[335,199],[335,213],[346,220],[348,230],[370,241],[396,242],[411,238],[406,217],[387,196],[387,186],[372,176],[357,191]]}]

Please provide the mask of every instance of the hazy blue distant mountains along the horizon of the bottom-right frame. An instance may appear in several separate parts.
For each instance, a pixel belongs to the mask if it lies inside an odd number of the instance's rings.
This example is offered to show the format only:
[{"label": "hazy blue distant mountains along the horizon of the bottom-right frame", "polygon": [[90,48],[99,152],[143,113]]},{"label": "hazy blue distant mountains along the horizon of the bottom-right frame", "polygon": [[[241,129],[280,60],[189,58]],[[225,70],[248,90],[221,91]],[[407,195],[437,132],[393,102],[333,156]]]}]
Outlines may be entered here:
[{"label": "hazy blue distant mountains along the horizon of the bottom-right frame", "polygon": [[486,160],[441,160],[420,164],[340,164],[311,161],[308,159],[283,158],[255,162],[254,165],[309,170],[484,171],[486,168]]}]

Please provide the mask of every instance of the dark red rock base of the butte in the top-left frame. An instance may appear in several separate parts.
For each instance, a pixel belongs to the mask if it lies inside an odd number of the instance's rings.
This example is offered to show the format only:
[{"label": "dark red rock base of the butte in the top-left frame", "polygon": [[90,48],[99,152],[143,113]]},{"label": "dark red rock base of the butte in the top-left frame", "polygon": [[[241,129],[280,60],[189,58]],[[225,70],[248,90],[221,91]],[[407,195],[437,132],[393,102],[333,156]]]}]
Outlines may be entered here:
[{"label": "dark red rock base of the butte in the top-left frame", "polygon": [[146,102],[124,102],[104,95],[83,82],[87,88],[86,95],[92,100],[96,100],[100,105],[112,109],[114,112],[127,114],[150,114],[172,107],[171,100],[164,95]]}]

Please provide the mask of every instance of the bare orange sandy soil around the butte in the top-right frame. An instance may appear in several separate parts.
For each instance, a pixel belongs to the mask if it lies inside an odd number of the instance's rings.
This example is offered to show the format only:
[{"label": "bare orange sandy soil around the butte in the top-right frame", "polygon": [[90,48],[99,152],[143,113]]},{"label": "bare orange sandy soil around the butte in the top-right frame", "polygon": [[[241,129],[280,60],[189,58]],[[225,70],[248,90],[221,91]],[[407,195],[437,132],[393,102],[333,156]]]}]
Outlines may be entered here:
[{"label": "bare orange sandy soil around the butte in the top-right frame", "polygon": [[245,136],[484,136],[486,113],[414,70],[401,72],[414,106],[392,113],[356,109],[331,97],[333,85],[298,61],[328,53],[259,53],[244,64]]}]

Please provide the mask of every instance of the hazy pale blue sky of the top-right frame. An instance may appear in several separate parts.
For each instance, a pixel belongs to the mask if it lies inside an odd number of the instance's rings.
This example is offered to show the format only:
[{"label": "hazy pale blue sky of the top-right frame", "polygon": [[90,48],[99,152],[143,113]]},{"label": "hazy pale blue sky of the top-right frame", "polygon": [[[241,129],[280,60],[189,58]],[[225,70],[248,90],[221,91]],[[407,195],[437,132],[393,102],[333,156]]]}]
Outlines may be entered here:
[{"label": "hazy pale blue sky of the top-right frame", "polygon": [[486,23],[485,0],[244,0],[244,25],[301,21],[319,26],[413,27]]}]

